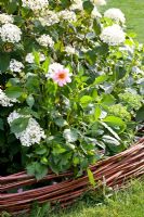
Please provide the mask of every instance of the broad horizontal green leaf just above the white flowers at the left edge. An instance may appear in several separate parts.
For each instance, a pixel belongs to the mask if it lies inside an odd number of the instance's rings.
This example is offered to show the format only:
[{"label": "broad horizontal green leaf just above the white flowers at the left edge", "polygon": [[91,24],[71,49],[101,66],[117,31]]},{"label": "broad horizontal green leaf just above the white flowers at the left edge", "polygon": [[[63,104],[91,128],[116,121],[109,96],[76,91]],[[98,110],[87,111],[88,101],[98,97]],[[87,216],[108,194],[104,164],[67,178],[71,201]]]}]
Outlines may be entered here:
[{"label": "broad horizontal green leaf just above the white flowers at the left edge", "polygon": [[9,98],[19,98],[23,94],[23,89],[21,87],[10,87],[6,88],[5,94]]}]

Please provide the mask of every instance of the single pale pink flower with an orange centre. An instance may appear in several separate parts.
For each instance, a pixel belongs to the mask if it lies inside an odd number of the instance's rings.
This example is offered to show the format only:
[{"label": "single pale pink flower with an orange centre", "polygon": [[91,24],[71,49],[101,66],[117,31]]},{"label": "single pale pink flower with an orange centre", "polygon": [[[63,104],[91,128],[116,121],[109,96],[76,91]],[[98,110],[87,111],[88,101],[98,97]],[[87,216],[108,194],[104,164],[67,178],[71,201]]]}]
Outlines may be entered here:
[{"label": "single pale pink flower with an orange centre", "polygon": [[63,87],[67,82],[71,82],[70,76],[68,68],[60,68],[51,77],[60,87]]}]

